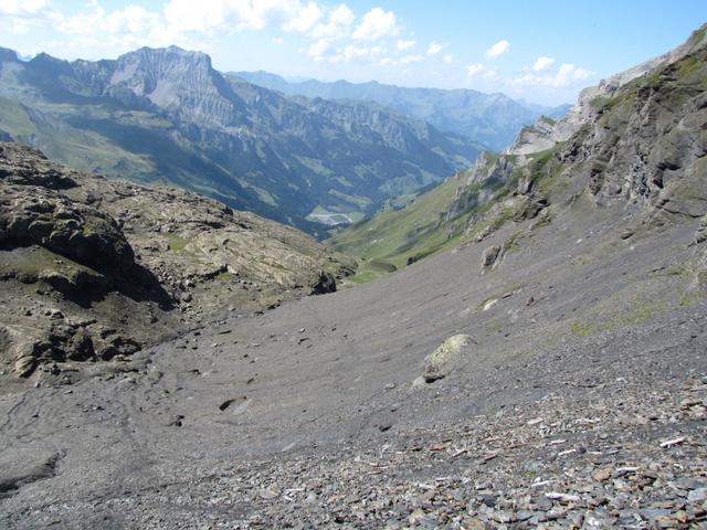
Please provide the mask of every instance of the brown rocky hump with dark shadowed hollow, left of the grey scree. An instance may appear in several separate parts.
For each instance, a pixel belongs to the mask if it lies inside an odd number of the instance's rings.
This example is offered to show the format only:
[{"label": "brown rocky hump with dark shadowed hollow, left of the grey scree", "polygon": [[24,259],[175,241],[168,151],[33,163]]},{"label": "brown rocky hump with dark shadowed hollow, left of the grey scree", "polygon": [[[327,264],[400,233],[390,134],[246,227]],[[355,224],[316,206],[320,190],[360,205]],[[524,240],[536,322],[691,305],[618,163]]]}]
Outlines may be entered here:
[{"label": "brown rocky hump with dark shadowed hollow, left of the grey scree", "polygon": [[330,293],[352,266],[255,214],[0,144],[0,363],[18,375],[71,379],[63,363],[125,359],[229,309]]}]

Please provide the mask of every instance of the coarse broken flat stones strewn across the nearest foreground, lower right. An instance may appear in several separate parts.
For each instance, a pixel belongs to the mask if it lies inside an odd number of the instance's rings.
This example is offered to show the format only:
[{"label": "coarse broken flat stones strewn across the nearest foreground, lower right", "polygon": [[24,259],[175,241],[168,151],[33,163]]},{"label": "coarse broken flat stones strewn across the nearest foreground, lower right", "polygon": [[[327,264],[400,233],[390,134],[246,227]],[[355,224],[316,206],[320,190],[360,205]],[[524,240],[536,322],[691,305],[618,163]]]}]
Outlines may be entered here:
[{"label": "coarse broken flat stones strewn across the nearest foreground, lower right", "polygon": [[[665,399],[695,398],[695,379],[687,383],[646,390],[626,381],[620,394],[589,390],[589,405],[549,394],[514,405],[508,417],[416,428],[384,443],[289,447],[286,457],[233,462],[167,485],[150,501],[183,504],[170,520],[184,527],[202,523],[207,513],[194,507],[209,506],[210,523],[229,529],[707,529],[707,446],[689,442],[706,439],[707,426]],[[650,423],[626,422],[646,410]],[[666,439],[674,428],[686,435]],[[576,451],[557,458],[551,442]],[[104,502],[139,509],[130,495]]]}]

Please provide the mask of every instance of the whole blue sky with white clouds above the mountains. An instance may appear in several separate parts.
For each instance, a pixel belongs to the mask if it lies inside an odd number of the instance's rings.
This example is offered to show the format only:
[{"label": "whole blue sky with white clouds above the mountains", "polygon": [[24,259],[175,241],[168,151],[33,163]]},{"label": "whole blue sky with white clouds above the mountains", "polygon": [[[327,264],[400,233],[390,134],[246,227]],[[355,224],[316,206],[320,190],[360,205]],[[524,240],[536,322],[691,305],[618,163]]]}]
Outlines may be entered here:
[{"label": "whole blue sky with white clouds above the mountains", "polygon": [[705,22],[707,0],[0,0],[0,46],[98,60],[175,44],[223,72],[558,105]]}]

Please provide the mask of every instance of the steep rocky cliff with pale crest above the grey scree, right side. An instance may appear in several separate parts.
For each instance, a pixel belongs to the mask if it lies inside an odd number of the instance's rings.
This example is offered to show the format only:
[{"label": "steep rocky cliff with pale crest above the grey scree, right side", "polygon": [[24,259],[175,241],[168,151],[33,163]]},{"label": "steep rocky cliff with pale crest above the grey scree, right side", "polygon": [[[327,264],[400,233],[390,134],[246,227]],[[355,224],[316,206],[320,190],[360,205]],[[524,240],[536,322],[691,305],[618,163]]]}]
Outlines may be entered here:
[{"label": "steep rocky cliff with pale crest above the grey scree, right side", "polygon": [[[540,179],[564,174],[585,182],[598,203],[621,200],[651,212],[704,215],[706,64],[703,28],[676,50],[584,89],[564,119],[542,117],[525,127],[506,153],[481,157],[472,174],[493,174],[486,162],[493,159],[505,168],[506,182],[516,176],[520,195],[537,199]],[[473,184],[458,194],[468,195]],[[464,209],[453,203],[449,211],[458,215]]]}]

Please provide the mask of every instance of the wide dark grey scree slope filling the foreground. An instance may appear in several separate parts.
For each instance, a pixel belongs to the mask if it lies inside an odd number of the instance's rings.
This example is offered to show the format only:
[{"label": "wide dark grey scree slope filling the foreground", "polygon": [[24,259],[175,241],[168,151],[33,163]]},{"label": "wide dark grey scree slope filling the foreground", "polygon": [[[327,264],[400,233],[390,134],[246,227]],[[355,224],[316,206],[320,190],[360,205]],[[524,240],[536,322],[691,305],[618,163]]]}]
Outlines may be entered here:
[{"label": "wide dark grey scree slope filling the foreground", "polygon": [[6,393],[0,527],[707,528],[695,226],[572,215]]}]

